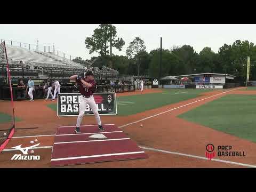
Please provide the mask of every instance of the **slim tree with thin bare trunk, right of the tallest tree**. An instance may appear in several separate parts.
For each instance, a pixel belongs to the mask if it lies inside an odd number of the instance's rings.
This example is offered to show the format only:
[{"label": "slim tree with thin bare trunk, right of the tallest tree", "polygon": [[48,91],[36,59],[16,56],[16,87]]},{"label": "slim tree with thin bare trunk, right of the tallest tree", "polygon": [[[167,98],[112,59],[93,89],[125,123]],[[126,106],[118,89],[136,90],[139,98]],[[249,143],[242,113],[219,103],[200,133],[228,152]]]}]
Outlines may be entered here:
[{"label": "slim tree with thin bare trunk, right of the tallest tree", "polygon": [[146,46],[144,41],[135,37],[133,41],[130,43],[129,47],[127,47],[126,54],[130,59],[134,59],[137,63],[137,75],[140,75],[140,64],[141,64],[141,56],[142,52],[146,51]]}]

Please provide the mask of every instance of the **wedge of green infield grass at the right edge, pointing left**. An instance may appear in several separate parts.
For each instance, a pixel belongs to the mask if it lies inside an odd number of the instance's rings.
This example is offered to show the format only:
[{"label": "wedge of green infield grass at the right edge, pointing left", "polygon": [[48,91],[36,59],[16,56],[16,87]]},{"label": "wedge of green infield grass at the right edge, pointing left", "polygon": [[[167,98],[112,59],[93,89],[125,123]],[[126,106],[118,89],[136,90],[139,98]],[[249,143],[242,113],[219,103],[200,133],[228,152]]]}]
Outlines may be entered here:
[{"label": "wedge of green infield grass at the right edge, pointing left", "polygon": [[226,95],[179,117],[256,142],[255,114],[255,95]]}]

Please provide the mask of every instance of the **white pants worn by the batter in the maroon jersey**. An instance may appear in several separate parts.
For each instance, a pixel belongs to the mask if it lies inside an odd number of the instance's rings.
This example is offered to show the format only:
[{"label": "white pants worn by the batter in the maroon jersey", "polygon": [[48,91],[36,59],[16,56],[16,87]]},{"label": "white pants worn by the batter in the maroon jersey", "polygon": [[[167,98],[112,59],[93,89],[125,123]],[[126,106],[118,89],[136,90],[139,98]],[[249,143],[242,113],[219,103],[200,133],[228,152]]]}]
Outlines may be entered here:
[{"label": "white pants worn by the batter in the maroon jersey", "polygon": [[94,117],[98,123],[98,125],[101,125],[100,121],[100,115],[97,110],[96,103],[94,101],[93,96],[90,98],[84,98],[81,97],[80,103],[79,103],[79,115],[77,117],[76,126],[79,127],[81,125],[81,122],[83,120],[84,112],[86,110],[86,105],[89,104],[90,108],[92,109],[92,112],[94,114]]}]

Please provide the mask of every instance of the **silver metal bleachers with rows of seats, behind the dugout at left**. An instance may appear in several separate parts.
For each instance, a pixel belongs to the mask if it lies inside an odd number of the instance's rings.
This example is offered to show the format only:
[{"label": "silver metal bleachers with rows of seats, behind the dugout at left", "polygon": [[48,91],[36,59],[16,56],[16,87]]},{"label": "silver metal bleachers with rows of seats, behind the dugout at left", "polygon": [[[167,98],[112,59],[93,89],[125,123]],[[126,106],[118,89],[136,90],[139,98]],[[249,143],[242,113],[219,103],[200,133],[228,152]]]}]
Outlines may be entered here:
[{"label": "silver metal bleachers with rows of seats, behind the dugout at left", "polygon": [[[59,55],[60,52],[54,52],[54,49],[52,52],[50,52],[50,48],[48,52],[45,51],[45,47],[43,47],[44,51],[39,50],[38,45],[36,49],[30,49],[31,44],[16,42],[20,46],[14,46],[13,41],[11,41],[11,44],[5,44],[10,72],[13,78],[27,78],[29,76],[33,78],[68,78],[71,75],[81,73],[91,64],[87,62],[88,65],[81,65],[71,60],[71,56],[67,58],[67,54],[63,54],[64,57],[61,57]],[[27,46],[22,47],[22,45]],[[24,63],[23,66],[20,65],[20,61]],[[91,67],[90,69],[93,71],[95,77],[100,79],[118,78],[119,74],[117,70],[106,66],[102,68]],[[6,65],[2,62],[0,62],[0,77],[6,77]]]}]

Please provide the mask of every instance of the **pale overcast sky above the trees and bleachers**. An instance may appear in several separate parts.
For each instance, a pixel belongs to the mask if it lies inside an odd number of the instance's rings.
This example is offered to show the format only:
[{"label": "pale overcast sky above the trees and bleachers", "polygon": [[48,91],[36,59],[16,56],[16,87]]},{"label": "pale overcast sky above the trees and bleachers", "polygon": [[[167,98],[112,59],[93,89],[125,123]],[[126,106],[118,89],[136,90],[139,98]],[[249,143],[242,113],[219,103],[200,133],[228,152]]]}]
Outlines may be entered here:
[{"label": "pale overcast sky above the trees and bleachers", "polygon": [[[163,49],[171,49],[173,45],[190,45],[196,52],[209,46],[215,53],[223,44],[233,44],[234,41],[248,40],[256,44],[256,25],[254,24],[118,24],[117,37],[124,39],[122,51],[113,48],[116,55],[126,55],[126,48],[135,37],[140,37],[146,45],[146,50],[160,47],[160,37],[163,38]],[[86,49],[85,39],[91,37],[93,30],[99,24],[0,24],[0,39],[16,42],[55,46],[72,57],[90,59],[98,53],[89,54]]]}]

